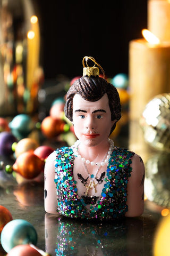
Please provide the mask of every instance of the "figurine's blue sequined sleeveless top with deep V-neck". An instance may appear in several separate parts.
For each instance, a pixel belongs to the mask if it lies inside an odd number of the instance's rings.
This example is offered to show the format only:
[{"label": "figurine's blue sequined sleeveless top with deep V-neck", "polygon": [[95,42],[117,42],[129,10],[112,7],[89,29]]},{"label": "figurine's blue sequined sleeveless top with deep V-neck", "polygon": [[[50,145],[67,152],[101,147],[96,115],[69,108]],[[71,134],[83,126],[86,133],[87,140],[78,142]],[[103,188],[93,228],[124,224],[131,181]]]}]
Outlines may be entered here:
[{"label": "figurine's blue sequined sleeveless top with deep V-neck", "polygon": [[95,205],[86,208],[78,195],[74,180],[74,155],[70,147],[56,150],[55,183],[58,198],[57,212],[65,217],[81,219],[112,220],[124,217],[128,211],[127,184],[131,176],[130,164],[134,153],[115,147],[107,166],[105,185]]}]

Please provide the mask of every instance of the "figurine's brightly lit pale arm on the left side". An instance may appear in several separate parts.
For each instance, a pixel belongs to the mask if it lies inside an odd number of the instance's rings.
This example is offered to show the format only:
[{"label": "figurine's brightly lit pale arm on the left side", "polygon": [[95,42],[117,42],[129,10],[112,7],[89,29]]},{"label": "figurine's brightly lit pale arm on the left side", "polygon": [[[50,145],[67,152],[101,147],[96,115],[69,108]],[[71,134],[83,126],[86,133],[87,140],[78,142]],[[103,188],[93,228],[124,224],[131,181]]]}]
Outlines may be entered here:
[{"label": "figurine's brightly lit pale arm on the left side", "polygon": [[56,184],[54,182],[55,179],[55,151],[48,156],[46,159],[45,169],[44,169],[44,206],[45,211],[48,213],[56,214],[57,208],[57,195],[56,195]]}]

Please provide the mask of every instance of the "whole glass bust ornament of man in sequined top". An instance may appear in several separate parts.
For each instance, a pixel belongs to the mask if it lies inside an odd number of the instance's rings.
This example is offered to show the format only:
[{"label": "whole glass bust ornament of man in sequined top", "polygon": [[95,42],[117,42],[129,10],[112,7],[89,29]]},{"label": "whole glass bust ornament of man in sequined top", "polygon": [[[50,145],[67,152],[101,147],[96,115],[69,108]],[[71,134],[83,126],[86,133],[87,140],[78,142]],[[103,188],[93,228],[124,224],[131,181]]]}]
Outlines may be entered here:
[{"label": "whole glass bust ornament of man in sequined top", "polygon": [[121,118],[120,98],[96,65],[104,73],[94,58],[84,57],[83,76],[66,94],[65,116],[78,141],[46,160],[45,211],[79,219],[137,217],[144,207],[145,166],[109,139]]}]

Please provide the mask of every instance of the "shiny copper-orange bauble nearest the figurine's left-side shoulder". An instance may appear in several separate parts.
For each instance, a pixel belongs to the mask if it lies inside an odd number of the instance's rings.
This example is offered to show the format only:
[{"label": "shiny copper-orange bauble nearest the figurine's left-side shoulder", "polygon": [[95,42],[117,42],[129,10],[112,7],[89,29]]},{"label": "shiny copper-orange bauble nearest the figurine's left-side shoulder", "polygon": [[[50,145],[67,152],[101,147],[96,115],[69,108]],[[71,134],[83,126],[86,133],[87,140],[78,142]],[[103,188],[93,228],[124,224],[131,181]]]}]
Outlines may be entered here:
[{"label": "shiny copper-orange bauble nearest the figurine's left-side shoulder", "polygon": [[13,164],[13,171],[18,172],[25,179],[36,178],[44,170],[45,162],[32,151],[22,153]]}]

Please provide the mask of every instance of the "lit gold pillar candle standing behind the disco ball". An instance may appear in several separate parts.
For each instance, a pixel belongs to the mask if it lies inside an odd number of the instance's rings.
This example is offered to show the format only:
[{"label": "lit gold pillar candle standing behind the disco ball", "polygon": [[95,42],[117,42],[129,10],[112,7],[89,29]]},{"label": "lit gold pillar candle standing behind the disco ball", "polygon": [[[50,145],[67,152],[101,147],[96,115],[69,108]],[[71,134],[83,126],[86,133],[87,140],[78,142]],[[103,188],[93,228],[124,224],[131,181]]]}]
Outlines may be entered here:
[{"label": "lit gold pillar candle standing behind the disco ball", "polygon": [[149,44],[135,39],[129,45],[130,119],[140,119],[155,95],[170,91],[170,42]]}]

